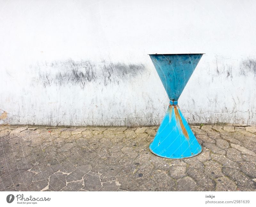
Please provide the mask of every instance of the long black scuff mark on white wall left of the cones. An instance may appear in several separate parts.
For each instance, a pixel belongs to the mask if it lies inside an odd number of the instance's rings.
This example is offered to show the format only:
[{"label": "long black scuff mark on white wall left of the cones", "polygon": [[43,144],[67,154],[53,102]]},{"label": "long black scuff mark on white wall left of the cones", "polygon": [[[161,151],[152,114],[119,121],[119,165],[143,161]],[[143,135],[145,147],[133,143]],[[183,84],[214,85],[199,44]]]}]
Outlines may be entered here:
[{"label": "long black scuff mark on white wall left of the cones", "polygon": [[96,82],[99,84],[119,84],[120,81],[128,81],[145,70],[143,64],[125,64],[112,62],[91,62],[91,61],[55,61],[44,65],[31,66],[38,70],[39,81],[44,87],[50,85],[81,85],[84,88],[86,83]]}]

